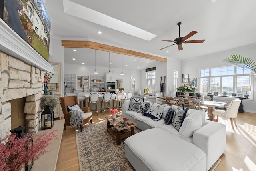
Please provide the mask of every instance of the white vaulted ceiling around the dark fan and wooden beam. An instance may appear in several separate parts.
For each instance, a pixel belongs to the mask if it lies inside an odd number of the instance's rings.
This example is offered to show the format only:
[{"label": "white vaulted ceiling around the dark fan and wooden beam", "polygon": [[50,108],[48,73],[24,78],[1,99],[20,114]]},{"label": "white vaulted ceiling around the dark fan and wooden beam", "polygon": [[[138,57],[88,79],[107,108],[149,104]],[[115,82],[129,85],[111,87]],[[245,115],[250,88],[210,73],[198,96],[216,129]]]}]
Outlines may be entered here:
[{"label": "white vaulted ceiling around the dark fan and wooden beam", "polygon": [[[44,5],[52,23],[52,35],[62,40],[90,40],[178,60],[256,44],[255,0],[217,0],[214,3],[211,0],[44,0]],[[86,13],[86,9],[96,12]],[[105,14],[104,19],[102,15],[97,16],[97,12]],[[108,23],[107,16],[112,17],[112,24]],[[118,24],[114,24],[113,18],[156,37],[144,40],[127,34],[132,29],[124,31],[126,33],[117,31]],[[198,33],[187,40],[205,39],[205,42],[182,44],[180,51],[177,45],[160,50],[173,44],[162,39],[174,40],[179,36],[178,22],[182,22],[180,36],[195,30]],[[99,30],[102,34],[97,33]],[[65,63],[81,64],[85,60],[86,65],[95,65],[95,50],[76,49],[74,53],[71,48],[65,48]],[[97,66],[108,66],[108,52],[96,53]],[[121,67],[122,58],[118,57],[122,55],[110,53],[110,62],[116,61]],[[123,57],[124,65],[127,62],[134,70],[138,69],[137,64],[131,63],[135,57]],[[131,62],[128,59],[132,59]],[[138,64],[146,61],[150,60],[137,60]],[[152,65],[153,61],[150,62],[140,69]]]}]

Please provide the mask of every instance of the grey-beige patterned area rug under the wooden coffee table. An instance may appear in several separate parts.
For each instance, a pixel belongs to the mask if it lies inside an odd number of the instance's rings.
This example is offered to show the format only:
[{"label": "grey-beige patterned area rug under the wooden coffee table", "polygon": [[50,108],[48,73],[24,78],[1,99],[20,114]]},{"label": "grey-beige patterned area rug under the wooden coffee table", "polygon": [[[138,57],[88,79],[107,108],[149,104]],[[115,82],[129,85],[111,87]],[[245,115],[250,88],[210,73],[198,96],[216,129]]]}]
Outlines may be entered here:
[{"label": "grey-beige patterned area rug under the wooden coffee table", "polygon": [[[135,171],[125,157],[125,143],[106,131],[107,122],[85,126],[83,131],[76,129],[76,145],[80,171]],[[114,128],[112,128],[114,129]],[[134,128],[135,133],[140,129]],[[214,171],[221,159],[209,169]]]}]

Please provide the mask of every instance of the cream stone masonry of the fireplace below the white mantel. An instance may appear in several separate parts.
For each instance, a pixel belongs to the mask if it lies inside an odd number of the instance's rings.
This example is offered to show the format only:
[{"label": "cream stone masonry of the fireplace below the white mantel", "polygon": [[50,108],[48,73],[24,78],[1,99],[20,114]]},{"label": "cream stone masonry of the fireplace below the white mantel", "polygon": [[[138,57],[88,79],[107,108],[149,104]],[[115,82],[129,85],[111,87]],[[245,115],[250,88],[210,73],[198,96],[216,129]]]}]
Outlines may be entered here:
[{"label": "cream stone masonry of the fireplace below the white mantel", "polygon": [[[19,122],[25,124],[26,132],[31,135],[35,134],[40,129],[40,98],[44,94],[44,71],[1,51],[0,70],[1,133],[5,134],[10,131],[10,128],[14,127],[20,119]],[[24,102],[21,102],[22,98],[24,98]],[[22,105],[15,104],[19,101],[24,103],[24,116],[17,118],[16,111],[22,110]],[[22,115],[22,111],[20,115]]]}]

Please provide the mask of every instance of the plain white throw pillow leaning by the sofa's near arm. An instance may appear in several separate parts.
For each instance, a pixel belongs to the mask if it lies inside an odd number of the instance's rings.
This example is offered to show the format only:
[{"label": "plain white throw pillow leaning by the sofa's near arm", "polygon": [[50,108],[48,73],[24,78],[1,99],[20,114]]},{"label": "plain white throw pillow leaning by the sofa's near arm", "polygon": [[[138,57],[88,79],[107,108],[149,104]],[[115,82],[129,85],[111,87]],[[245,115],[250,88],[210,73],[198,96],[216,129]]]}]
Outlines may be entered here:
[{"label": "plain white throw pillow leaning by the sofa's near arm", "polygon": [[202,126],[202,116],[199,112],[193,112],[186,117],[180,127],[179,134],[182,137],[190,137],[194,131]]}]

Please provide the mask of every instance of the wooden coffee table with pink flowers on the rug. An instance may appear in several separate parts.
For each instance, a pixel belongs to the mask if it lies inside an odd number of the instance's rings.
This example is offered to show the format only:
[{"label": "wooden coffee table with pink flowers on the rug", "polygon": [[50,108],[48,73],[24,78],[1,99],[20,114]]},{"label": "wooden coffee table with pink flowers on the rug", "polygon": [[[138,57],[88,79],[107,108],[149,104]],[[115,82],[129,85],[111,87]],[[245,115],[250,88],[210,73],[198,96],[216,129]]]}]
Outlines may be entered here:
[{"label": "wooden coffee table with pink flowers on the rug", "polygon": [[[114,138],[116,139],[117,145],[121,144],[121,139],[130,137],[131,135],[134,135],[134,127],[137,126],[136,123],[130,121],[129,119],[126,119],[122,115],[120,115],[120,117],[116,117],[115,121],[113,121],[111,116],[106,117],[106,119],[108,121],[107,122],[107,131],[110,132],[114,136]],[[120,128],[115,125],[119,121],[126,121],[126,122],[128,122],[128,125],[126,125],[123,128]],[[114,127],[115,130],[112,130],[111,129],[112,127]],[[128,128],[130,128],[131,130],[129,130]],[[123,130],[125,130],[126,133],[121,133]]]}]

